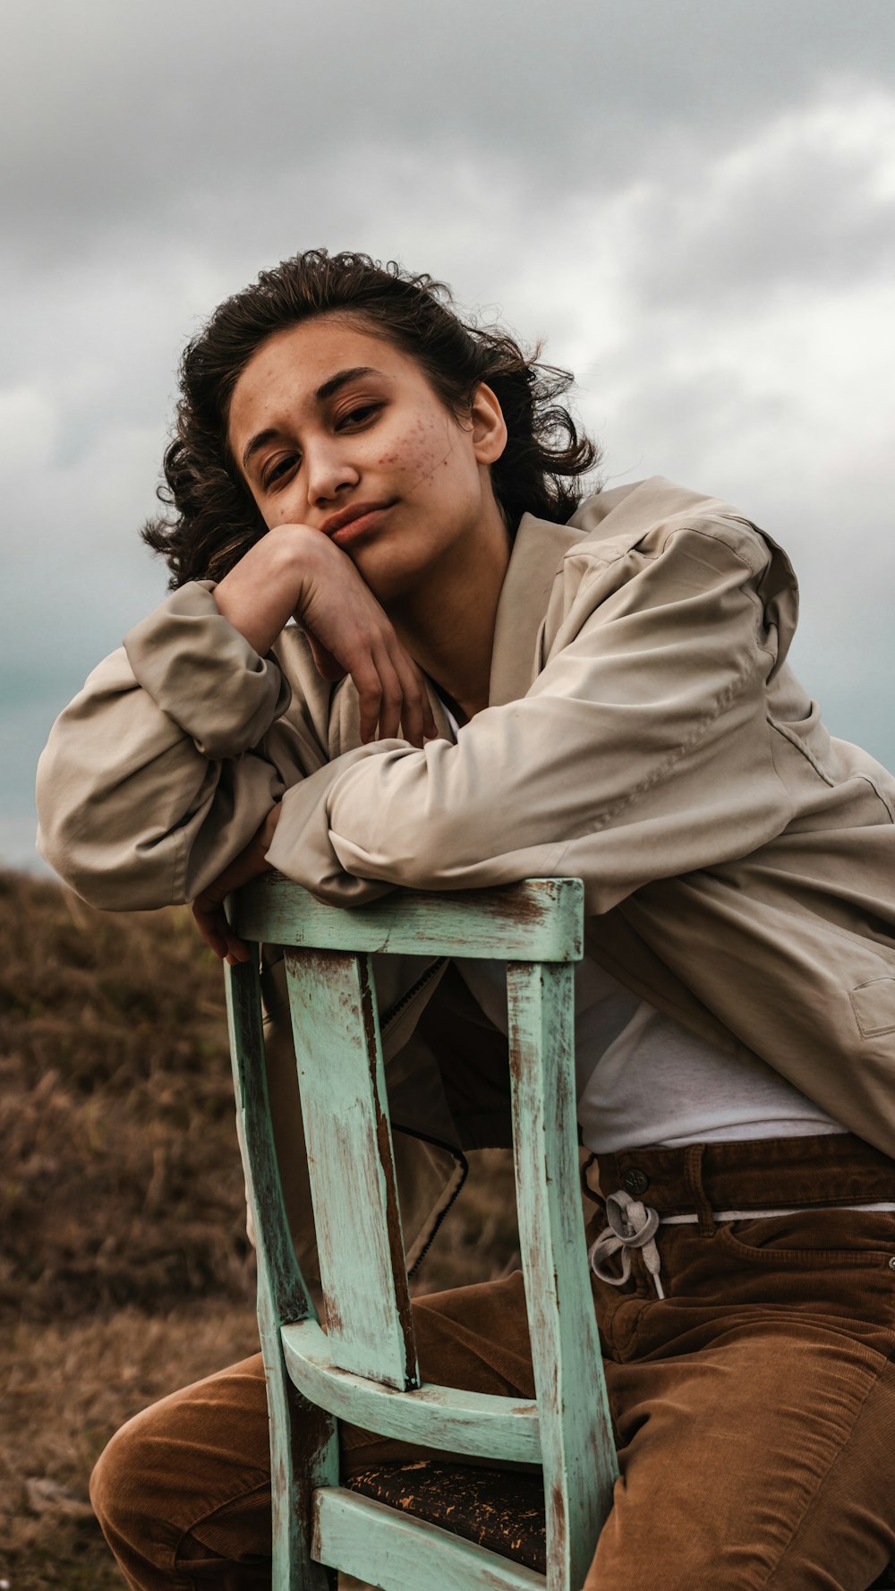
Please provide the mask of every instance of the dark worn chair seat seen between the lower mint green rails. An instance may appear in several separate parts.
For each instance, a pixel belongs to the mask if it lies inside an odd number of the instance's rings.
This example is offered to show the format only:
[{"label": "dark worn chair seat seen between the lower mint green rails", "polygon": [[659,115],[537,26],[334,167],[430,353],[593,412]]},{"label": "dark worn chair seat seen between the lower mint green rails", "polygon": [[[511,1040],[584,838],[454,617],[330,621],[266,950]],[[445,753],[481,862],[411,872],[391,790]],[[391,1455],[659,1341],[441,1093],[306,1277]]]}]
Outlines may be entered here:
[{"label": "dark worn chair seat seen between the lower mint green rails", "polygon": [[389,1508],[440,1524],[539,1573],[547,1570],[544,1480],[539,1473],[418,1459],[362,1470],[343,1484]]}]

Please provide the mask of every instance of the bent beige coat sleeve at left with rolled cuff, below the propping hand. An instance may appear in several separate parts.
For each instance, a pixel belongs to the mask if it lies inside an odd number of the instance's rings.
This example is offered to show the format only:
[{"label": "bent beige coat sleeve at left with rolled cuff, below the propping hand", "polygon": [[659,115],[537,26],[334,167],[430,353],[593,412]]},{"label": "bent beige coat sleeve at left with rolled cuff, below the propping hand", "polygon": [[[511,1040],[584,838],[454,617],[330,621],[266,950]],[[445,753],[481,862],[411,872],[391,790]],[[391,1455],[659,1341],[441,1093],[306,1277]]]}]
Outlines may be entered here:
[{"label": "bent beige coat sleeve at left with rolled cuff, below the propping hand", "polygon": [[43,856],[108,910],[194,899],[326,760],[302,703],[278,724],[289,697],[211,587],[181,587],[56,721],[37,778]]}]

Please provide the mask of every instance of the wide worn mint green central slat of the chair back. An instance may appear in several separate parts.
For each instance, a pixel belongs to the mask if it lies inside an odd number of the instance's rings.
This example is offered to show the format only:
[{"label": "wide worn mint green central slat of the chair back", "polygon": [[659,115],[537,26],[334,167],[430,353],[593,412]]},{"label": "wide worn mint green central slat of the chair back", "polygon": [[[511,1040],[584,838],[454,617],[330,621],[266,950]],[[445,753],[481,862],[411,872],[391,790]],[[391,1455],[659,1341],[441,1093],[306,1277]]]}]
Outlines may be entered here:
[{"label": "wide worn mint green central slat of the chair back", "polygon": [[288,950],[286,982],[332,1359],[417,1387],[370,958]]}]

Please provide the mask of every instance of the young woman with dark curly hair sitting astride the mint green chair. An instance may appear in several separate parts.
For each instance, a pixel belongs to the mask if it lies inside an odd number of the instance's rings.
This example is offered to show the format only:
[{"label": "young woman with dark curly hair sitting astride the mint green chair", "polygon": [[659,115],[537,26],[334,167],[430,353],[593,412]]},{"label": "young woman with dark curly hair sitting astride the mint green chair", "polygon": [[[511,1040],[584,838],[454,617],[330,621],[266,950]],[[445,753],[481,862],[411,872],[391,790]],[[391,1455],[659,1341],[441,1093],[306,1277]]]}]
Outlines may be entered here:
[{"label": "young woman with dark curly hair sitting astride the mint green chair", "polygon": [[[192,901],[231,959],[221,902],[267,867],[342,904],[582,877],[622,1467],[588,1586],[863,1591],[895,1553],[895,781],[787,667],[787,558],[661,479],[579,503],[569,379],[364,256],[261,275],[181,380],[173,590],[52,730],[45,854],[103,907]],[[407,986],[413,1255],[463,1147],[507,1141],[506,1002],[499,967]],[[428,1379],[533,1394],[518,1274],[415,1317]],[[130,1421],[94,1476],[129,1583],[269,1585],[267,1464],[259,1357]]]}]

